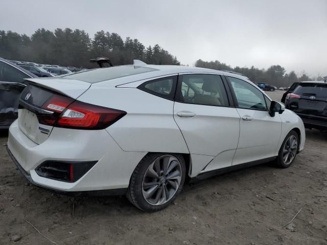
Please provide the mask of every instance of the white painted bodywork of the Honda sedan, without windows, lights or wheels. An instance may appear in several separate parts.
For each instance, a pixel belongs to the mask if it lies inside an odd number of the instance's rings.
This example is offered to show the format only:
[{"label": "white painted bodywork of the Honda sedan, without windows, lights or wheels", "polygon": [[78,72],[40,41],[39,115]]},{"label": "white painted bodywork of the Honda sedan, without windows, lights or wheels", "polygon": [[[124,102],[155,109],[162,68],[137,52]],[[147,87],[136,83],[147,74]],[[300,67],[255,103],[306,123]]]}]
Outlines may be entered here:
[{"label": "white painted bodywork of the Honda sedan, without windows, lights or wheels", "polygon": [[[10,152],[36,184],[57,190],[84,191],[127,188],[135,167],[149,152],[188,154],[189,175],[196,177],[219,168],[277,156],[286,135],[294,128],[300,132],[299,151],[303,149],[303,123],[289,110],[271,117],[268,111],[174,102],[137,88],[145,81],[186,72],[226,75],[253,85],[244,76],[197,67],[148,67],[158,70],[94,84],[65,76],[28,79],[78,101],[127,114],[102,130],[54,127],[49,138],[35,139],[37,143],[19,129],[16,120],[9,130]],[[193,112],[195,116],[179,117],[177,113],[181,111]],[[243,121],[243,115],[253,120]],[[23,123],[24,118],[21,119]],[[68,183],[40,177],[35,168],[45,160],[98,162],[79,180]]]}]

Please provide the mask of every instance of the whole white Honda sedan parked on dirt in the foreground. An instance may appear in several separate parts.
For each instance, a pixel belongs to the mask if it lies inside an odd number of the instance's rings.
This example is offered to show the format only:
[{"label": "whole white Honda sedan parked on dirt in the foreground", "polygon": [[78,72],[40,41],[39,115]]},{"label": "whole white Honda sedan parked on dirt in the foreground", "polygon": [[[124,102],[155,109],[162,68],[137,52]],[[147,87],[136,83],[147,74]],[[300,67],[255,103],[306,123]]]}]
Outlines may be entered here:
[{"label": "whole white Honda sedan parked on dirt in the foreground", "polygon": [[135,61],[27,80],[8,153],[33,184],[69,194],[126,193],[157,211],[185,181],[289,167],[305,145],[295,113],[231,72]]}]

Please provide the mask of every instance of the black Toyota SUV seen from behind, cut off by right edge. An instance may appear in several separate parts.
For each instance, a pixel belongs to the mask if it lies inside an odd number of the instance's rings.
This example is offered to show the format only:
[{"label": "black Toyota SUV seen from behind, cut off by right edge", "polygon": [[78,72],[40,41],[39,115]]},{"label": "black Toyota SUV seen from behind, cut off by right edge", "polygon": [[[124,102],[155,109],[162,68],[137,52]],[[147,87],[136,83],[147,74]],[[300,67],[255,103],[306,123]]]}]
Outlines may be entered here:
[{"label": "black Toyota SUV seen from behind, cut off by right edge", "polygon": [[308,129],[327,129],[327,82],[301,82],[286,96],[285,107],[302,118]]}]

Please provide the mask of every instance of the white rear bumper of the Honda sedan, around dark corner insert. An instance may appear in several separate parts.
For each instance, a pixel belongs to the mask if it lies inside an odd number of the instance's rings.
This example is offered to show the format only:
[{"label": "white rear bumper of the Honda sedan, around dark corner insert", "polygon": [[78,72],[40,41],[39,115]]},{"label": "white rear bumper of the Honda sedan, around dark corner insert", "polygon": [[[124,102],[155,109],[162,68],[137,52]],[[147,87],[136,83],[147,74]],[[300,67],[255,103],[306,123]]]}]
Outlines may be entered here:
[{"label": "white rear bumper of the Honda sedan, around dark corner insert", "polygon": [[[9,129],[8,152],[30,182],[59,192],[126,189],[136,165],[146,154],[124,152],[106,130],[54,128],[48,139],[36,144],[20,131],[18,120]],[[47,160],[98,162],[79,180],[68,183],[36,173],[35,169]]]}]

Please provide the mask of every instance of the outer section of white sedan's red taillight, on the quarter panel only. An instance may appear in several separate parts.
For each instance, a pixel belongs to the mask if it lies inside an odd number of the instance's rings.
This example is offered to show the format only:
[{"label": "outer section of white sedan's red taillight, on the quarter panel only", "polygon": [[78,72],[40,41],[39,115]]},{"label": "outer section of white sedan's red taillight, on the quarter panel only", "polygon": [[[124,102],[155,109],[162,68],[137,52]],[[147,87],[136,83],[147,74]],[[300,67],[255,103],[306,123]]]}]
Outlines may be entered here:
[{"label": "outer section of white sedan's red taillight, on the quarter panel only", "polygon": [[74,129],[104,129],[125,114],[125,111],[75,101],[60,115],[56,126]]}]

